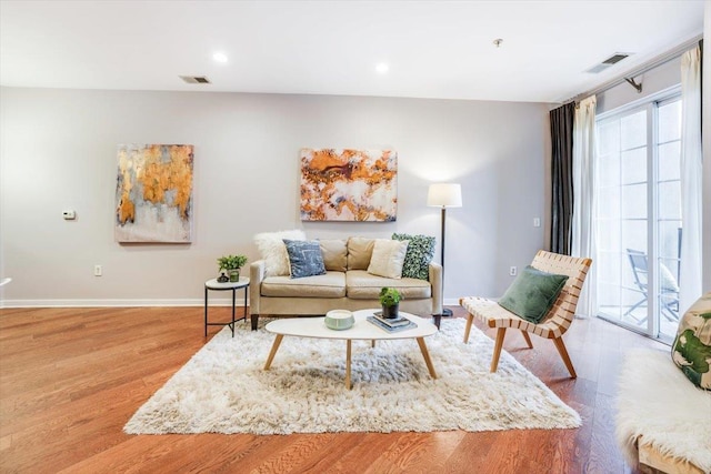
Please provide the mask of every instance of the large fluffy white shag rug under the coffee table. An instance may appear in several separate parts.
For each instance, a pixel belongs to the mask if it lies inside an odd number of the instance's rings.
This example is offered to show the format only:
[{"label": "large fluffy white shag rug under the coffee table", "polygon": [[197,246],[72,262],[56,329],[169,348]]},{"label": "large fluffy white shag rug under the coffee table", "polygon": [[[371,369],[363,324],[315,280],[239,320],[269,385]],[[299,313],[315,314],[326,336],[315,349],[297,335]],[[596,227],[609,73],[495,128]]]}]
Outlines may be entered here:
[{"label": "large fluffy white shag rug under the coffee table", "polygon": [[470,432],[573,428],[575,411],[464,320],[425,337],[438,377],[414,340],[354,341],[353,390],[344,386],[346,341],[284,336],[263,371],[274,335],[237,324],[212,337],[131,417],[129,434]]}]

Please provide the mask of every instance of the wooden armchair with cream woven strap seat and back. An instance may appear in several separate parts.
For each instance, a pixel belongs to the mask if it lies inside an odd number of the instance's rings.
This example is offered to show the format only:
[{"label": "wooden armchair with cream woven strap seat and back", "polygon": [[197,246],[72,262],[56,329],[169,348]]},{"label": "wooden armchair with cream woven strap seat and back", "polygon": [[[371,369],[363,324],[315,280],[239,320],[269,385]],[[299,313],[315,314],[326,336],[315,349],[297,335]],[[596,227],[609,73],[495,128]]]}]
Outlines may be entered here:
[{"label": "wooden armchair with cream woven strap seat and back", "polygon": [[553,303],[553,306],[538,324],[517,316],[491,300],[479,296],[460,299],[459,304],[469,313],[467,316],[467,329],[464,330],[464,343],[469,341],[469,333],[474,317],[485,322],[489,327],[498,327],[493,356],[491,357],[491,372],[495,372],[499,366],[499,356],[501,355],[501,347],[503,346],[503,337],[505,336],[507,329],[512,327],[520,330],[530,349],[533,347],[533,344],[531,343],[529,333],[552,339],[570,372],[570,376],[575,379],[578,375],[565,350],[565,344],[563,344],[562,335],[573,322],[575,306],[578,306],[578,296],[580,295],[591,263],[592,260],[590,259],[560,255],[543,250],[540,250],[535,254],[531,266],[543,272],[569,276],[555,303]]}]

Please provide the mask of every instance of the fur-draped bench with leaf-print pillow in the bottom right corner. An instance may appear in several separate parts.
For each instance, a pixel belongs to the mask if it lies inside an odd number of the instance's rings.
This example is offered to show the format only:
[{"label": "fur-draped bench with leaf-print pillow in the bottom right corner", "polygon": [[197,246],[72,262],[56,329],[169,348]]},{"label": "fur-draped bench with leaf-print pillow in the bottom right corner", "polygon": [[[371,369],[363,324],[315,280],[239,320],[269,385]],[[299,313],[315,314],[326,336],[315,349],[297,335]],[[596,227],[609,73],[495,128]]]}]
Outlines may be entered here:
[{"label": "fur-draped bench with leaf-print pillow in the bottom right corner", "polygon": [[[634,350],[620,374],[617,437],[642,472],[711,473],[711,293],[665,351]],[[679,365],[679,366],[678,366]]]}]

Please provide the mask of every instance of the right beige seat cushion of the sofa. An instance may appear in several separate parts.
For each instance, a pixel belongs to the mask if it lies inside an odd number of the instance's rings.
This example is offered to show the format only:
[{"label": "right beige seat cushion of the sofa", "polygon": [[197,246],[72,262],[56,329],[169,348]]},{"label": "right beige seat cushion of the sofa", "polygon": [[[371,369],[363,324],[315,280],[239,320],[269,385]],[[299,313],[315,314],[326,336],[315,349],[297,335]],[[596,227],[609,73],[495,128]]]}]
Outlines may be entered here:
[{"label": "right beige seat cushion of the sofa", "polygon": [[364,270],[349,270],[346,273],[346,294],[353,300],[378,300],[383,286],[398,289],[405,300],[432,296],[432,286],[424,280],[387,279]]}]

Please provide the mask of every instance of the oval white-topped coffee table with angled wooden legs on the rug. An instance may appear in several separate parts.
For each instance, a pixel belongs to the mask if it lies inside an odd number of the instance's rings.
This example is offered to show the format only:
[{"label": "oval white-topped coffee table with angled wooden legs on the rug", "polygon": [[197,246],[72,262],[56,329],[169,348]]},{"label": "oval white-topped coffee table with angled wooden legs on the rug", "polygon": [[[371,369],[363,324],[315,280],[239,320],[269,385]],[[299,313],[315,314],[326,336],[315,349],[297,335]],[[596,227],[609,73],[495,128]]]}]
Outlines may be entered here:
[{"label": "oval white-topped coffee table with angled wooden legs on the rug", "polygon": [[354,311],[353,316],[356,323],[352,327],[342,331],[330,330],[326,326],[323,317],[289,317],[283,320],[272,321],[267,324],[267,331],[277,334],[274,343],[269,352],[269,357],[264,364],[264,370],[268,371],[271,367],[271,363],[277,355],[279,345],[286,335],[297,337],[313,337],[313,339],[340,339],[346,341],[346,387],[352,389],[351,384],[351,341],[354,340],[369,340],[372,341],[374,346],[375,341],[395,340],[395,339],[414,339],[420,346],[422,357],[424,357],[424,364],[427,365],[430,376],[437,379],[430,353],[424,344],[424,337],[432,335],[437,332],[437,326],[414,314],[409,314],[400,311],[400,314],[417,324],[417,327],[400,332],[388,332],[373,323],[367,321],[368,316],[372,316],[378,310],[360,310]]}]

